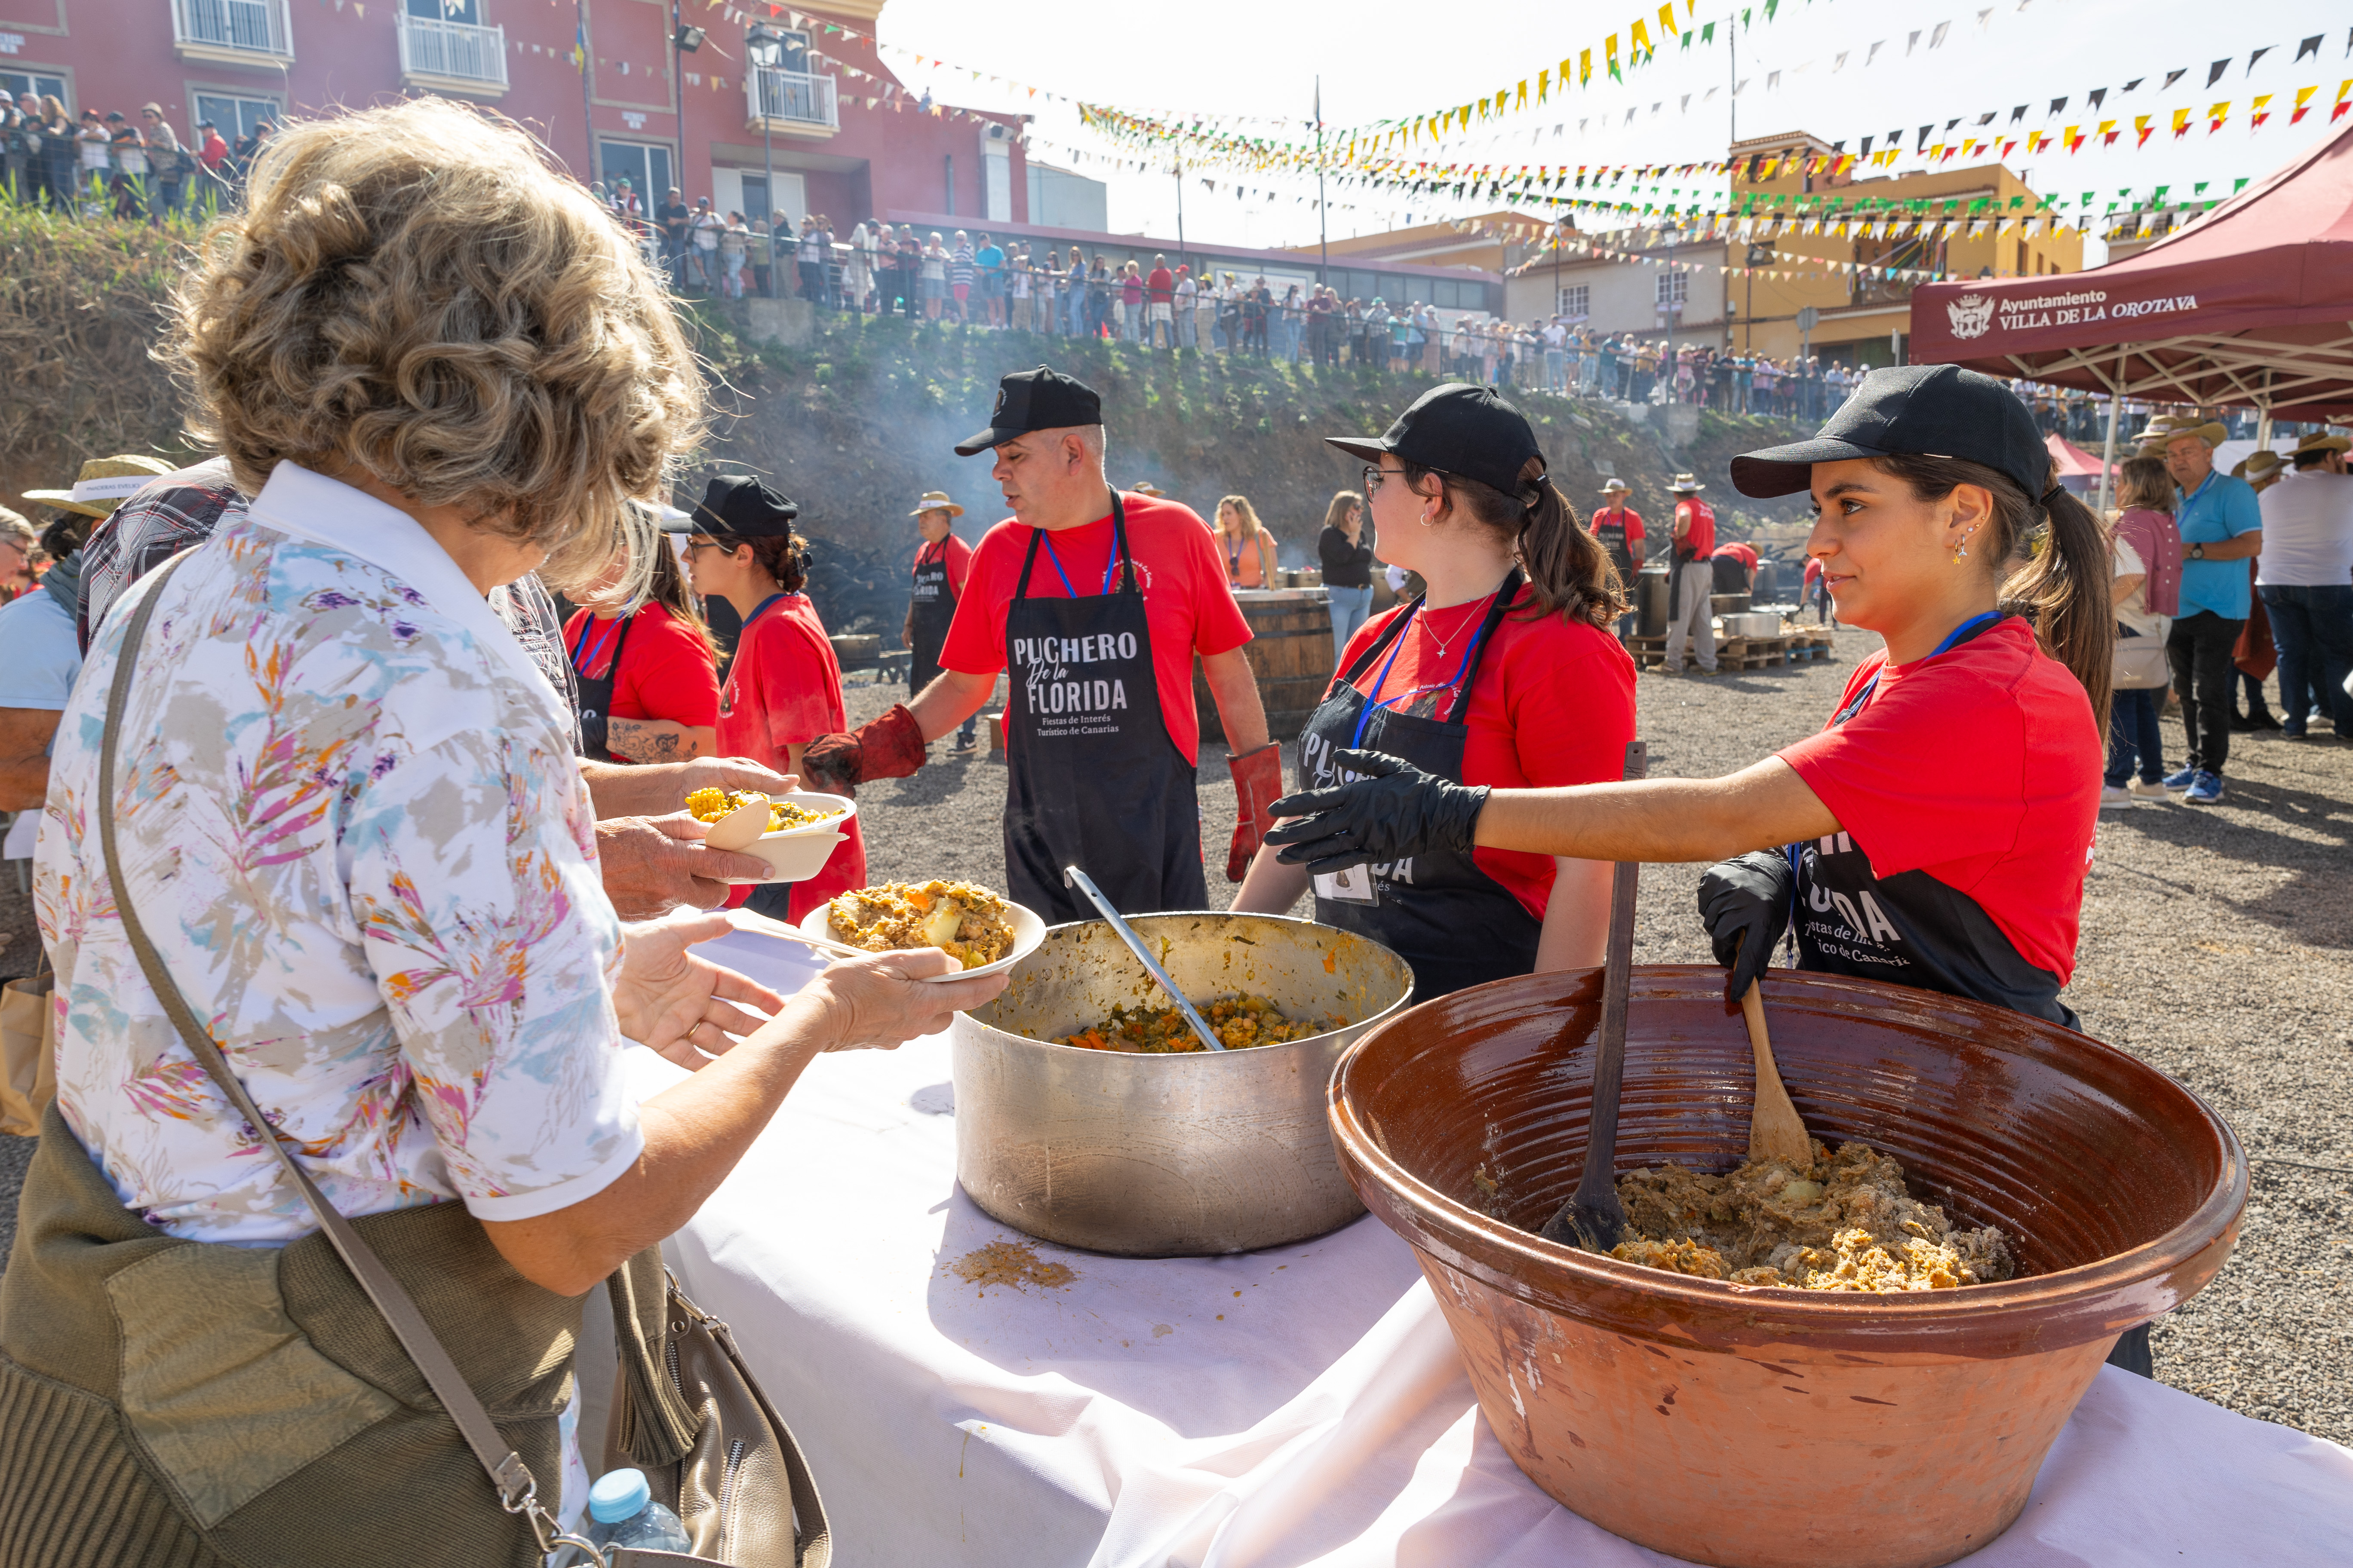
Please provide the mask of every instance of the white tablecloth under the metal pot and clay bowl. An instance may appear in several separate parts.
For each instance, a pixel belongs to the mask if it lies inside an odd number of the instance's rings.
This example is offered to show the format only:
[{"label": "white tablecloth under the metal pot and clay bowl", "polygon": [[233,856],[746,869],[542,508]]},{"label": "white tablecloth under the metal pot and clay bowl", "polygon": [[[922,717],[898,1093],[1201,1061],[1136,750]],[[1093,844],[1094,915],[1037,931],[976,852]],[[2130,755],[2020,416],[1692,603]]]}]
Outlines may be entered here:
[{"label": "white tablecloth under the metal pot and clay bowl", "polygon": [[[772,985],[807,969],[727,938]],[[642,1093],[680,1072],[633,1051]],[[1668,1563],[1494,1443],[1405,1241],[986,1293],[1021,1241],[955,1187],[948,1041],[821,1058],[668,1246],[800,1434],[842,1568]],[[2353,1453],[2104,1368],[1981,1568],[2353,1563]]]}]

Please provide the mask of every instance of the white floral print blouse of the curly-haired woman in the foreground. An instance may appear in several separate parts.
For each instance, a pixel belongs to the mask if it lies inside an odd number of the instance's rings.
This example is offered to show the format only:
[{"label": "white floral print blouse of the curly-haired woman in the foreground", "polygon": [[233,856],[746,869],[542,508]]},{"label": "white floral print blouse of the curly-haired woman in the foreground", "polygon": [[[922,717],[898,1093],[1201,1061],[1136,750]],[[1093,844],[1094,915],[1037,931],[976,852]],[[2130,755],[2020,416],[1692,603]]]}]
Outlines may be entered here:
[{"label": "white floral print blouse of the curly-haired woman in the foreground", "polygon": [[[264,1114],[346,1215],[525,1220],[600,1192],[642,1150],[621,929],[529,656],[412,517],[292,463],[160,595],[115,762],[122,872]],[[278,1246],[315,1222],[108,893],[99,741],[129,621],[108,616],[64,712],[35,853],[59,1107],[146,1222]]]}]

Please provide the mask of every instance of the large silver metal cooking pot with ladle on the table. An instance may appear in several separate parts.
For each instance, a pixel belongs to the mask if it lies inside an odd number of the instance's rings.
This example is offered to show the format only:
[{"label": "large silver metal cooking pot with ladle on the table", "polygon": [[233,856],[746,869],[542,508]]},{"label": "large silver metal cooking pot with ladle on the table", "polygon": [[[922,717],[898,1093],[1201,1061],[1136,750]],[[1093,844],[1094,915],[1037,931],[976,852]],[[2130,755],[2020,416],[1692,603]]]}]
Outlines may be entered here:
[{"label": "large silver metal cooking pot with ladle on the table", "polygon": [[1054,926],[1005,994],[955,1018],[955,1180],[1014,1229],[1127,1258],[1247,1253],[1365,1213],[1332,1154],[1325,1086],[1414,971],[1374,940],[1285,914],[1139,914],[1195,1001],[1235,992],[1348,1027],[1247,1051],[1125,1056],[1052,1044],[1160,1001],[1104,922]]}]

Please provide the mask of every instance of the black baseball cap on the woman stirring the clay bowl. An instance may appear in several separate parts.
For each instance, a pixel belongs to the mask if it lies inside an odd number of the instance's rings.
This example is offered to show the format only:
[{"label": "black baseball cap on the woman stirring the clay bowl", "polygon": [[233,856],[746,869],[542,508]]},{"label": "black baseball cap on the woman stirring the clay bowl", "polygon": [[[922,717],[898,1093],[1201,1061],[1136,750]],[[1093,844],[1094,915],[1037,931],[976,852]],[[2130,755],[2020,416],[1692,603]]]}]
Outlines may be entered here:
[{"label": "black baseball cap on the woman stirring the clay bowl", "polygon": [[1958,364],[1871,371],[1814,440],[1732,458],[1732,487],[1744,496],[1795,496],[1814,484],[1814,463],[1892,456],[1981,463],[2028,496],[2049,487],[2052,454],[2035,416],[2007,386]]}]

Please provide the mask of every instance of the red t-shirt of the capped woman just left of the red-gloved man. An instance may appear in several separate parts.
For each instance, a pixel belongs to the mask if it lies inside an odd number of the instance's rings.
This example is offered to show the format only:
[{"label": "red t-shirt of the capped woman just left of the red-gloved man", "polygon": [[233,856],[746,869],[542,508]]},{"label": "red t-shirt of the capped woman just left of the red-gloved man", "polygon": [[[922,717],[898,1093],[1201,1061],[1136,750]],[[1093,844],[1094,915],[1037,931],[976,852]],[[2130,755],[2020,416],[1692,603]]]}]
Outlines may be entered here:
[{"label": "red t-shirt of the capped woman just left of the red-gloved man", "polygon": [[[736,637],[736,656],[720,691],[720,757],[751,757],[786,773],[786,748],[845,729],[849,712],[842,708],[842,665],[826,639],[826,623],[816,618],[807,595],[779,595]],[[826,867],[793,884],[791,919],[859,886],[866,886],[866,839],[852,818],[849,837],[833,846]],[[741,898],[729,898],[734,903]]]}]

